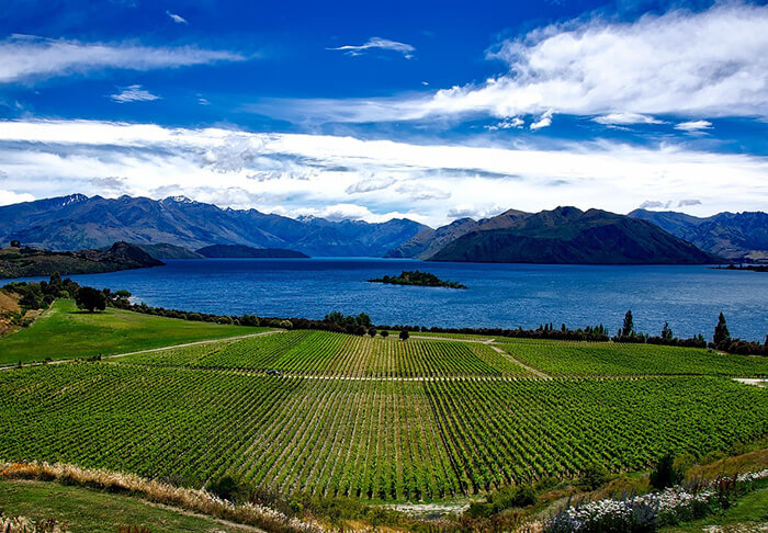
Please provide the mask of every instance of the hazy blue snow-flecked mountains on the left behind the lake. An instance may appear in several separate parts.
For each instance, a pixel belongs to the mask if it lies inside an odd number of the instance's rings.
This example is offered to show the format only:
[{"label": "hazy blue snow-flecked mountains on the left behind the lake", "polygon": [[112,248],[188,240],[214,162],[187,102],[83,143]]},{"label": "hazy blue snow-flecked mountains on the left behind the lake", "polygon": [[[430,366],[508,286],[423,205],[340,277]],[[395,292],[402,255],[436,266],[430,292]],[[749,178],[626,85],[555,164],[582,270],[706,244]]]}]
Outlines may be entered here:
[{"label": "hazy blue snow-flecked mountains on the left behind the lake", "polygon": [[308,256],[381,257],[423,229],[427,226],[405,218],[381,224],[293,219],[256,209],[221,208],[183,196],[150,200],[72,194],[0,207],[0,239],[50,250],[105,248],[128,241],[193,250],[245,245]]}]

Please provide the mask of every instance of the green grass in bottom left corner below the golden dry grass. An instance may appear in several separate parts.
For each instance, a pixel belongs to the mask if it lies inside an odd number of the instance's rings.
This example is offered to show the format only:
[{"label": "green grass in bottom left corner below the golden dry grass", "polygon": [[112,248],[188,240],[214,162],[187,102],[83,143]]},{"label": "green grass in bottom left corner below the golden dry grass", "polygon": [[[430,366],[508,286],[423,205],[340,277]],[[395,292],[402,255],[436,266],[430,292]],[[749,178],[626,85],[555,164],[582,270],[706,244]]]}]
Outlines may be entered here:
[{"label": "green grass in bottom left corner below the golden dry grass", "polygon": [[53,518],[78,533],[116,532],[121,525],[144,525],[153,533],[255,531],[126,495],[47,481],[0,480],[0,512],[35,521]]}]

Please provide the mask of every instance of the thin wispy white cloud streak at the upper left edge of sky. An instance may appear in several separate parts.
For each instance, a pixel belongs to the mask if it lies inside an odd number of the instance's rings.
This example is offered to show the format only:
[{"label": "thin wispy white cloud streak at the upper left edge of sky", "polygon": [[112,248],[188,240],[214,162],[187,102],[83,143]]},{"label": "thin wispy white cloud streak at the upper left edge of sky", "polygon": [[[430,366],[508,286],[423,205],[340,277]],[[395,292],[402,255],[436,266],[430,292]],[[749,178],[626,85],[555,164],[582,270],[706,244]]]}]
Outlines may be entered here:
[{"label": "thin wispy white cloud streak at the upper left edge of sky", "polygon": [[29,35],[0,41],[0,83],[35,78],[86,73],[106,68],[153,70],[159,68],[240,61],[233,52],[193,46],[151,47],[134,43],[82,43]]}]

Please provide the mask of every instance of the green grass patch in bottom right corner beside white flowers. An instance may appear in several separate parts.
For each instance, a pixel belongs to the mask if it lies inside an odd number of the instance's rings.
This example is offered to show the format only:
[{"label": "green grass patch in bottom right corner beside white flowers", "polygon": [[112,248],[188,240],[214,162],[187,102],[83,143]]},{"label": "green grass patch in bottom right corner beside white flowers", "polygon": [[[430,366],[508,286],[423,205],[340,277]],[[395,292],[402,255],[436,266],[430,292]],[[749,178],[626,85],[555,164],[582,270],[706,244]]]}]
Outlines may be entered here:
[{"label": "green grass patch in bottom right corner beside white flowers", "polygon": [[765,531],[759,528],[765,528],[767,523],[768,487],[739,498],[731,509],[694,522],[663,528],[659,533],[752,533]]}]

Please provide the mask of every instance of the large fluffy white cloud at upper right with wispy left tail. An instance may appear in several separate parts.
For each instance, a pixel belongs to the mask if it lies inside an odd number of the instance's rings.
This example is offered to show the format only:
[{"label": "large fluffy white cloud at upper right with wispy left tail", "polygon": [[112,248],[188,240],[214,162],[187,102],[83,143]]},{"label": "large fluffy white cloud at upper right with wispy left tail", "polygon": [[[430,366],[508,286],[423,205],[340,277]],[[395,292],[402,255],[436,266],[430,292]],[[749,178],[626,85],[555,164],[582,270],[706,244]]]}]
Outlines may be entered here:
[{"label": "large fluffy white cloud at upper right with wispy left tail", "polygon": [[550,110],[613,123],[655,115],[766,118],[766,27],[768,5],[741,2],[646,14],[632,23],[577,19],[500,43],[488,57],[505,61],[507,71],[483,83],[428,97],[283,101],[267,112],[339,122],[506,118]]}]

